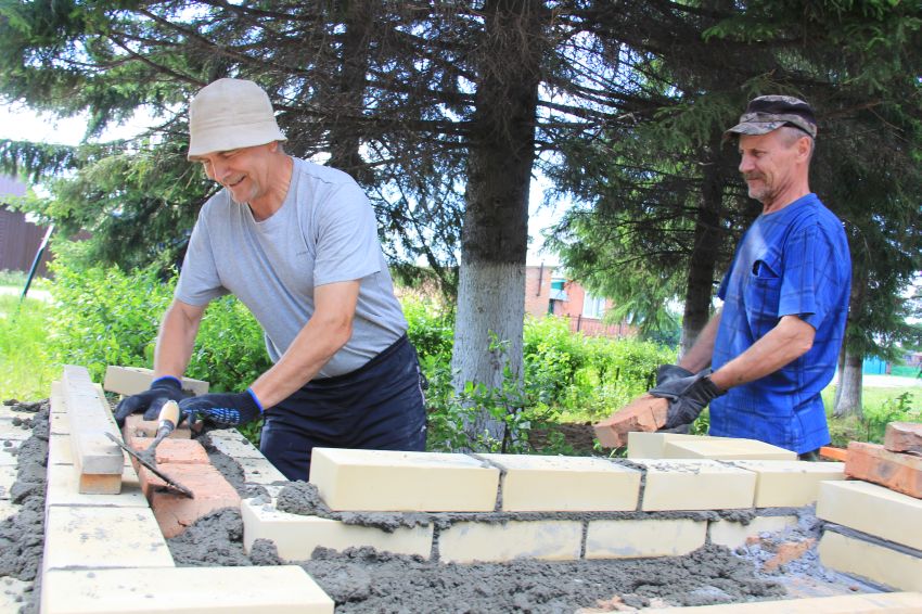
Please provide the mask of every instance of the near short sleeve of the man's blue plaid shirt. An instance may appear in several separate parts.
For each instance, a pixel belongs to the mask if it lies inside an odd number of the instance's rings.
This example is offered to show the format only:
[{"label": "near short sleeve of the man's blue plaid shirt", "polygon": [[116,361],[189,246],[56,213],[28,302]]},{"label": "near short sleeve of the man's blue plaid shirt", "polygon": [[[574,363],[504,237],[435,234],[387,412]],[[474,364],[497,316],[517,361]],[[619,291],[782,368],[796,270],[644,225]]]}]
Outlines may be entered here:
[{"label": "near short sleeve of the man's blue plaid shirt", "polygon": [[792,232],[782,258],[778,317],[798,316],[814,329],[819,328],[840,294],[840,266],[831,241],[818,225]]}]

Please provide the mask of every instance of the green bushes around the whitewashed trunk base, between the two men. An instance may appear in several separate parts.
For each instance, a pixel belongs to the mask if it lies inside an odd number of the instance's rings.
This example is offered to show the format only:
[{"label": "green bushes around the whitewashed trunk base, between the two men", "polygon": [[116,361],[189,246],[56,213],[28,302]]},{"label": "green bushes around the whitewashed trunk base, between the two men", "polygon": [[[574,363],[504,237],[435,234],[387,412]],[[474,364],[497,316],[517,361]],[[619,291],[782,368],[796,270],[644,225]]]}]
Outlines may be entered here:
[{"label": "green bushes around the whitewashed trunk base, between the two men", "polygon": [[[575,453],[555,424],[611,414],[649,389],[657,366],[676,359],[674,350],[653,343],[573,333],[562,318],[526,320],[524,337],[524,388],[507,372],[499,387],[468,382],[457,394],[450,353],[422,359],[430,383],[430,449]],[[501,351],[494,345],[492,351]],[[465,426],[478,414],[504,424],[504,437],[497,440],[482,433],[472,442]],[[530,443],[533,431],[547,432],[547,444],[539,449]]]}]

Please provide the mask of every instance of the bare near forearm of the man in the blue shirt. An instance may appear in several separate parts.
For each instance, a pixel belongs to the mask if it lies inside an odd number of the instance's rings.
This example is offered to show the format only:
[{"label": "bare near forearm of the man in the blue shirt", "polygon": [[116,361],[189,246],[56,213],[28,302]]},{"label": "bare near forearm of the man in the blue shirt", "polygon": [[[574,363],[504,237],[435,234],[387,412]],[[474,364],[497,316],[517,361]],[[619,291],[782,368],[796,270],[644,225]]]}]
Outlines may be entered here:
[{"label": "bare near forearm of the man in the blue shirt", "polygon": [[746,351],[715,371],[710,381],[726,391],[774,373],[809,351],[815,334],[801,318],[785,316]]}]

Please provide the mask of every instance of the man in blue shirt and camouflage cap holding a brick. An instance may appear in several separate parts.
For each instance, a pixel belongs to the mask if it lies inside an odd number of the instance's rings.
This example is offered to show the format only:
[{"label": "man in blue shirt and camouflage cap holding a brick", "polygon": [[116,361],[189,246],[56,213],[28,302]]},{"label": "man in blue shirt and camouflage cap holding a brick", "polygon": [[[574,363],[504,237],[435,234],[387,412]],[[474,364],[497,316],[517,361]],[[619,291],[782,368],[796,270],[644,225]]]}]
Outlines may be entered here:
[{"label": "man in blue shirt and camouflage cap holding a brick", "polygon": [[[725,132],[763,213],[746,230],[718,296],[723,308],[650,393],[669,399],[668,428],[710,402],[710,434],[809,457],[829,443],[820,392],[845,334],[851,263],[842,222],[810,192],[817,125],[810,106],[754,99]],[[703,371],[710,366],[710,371]]]}]

